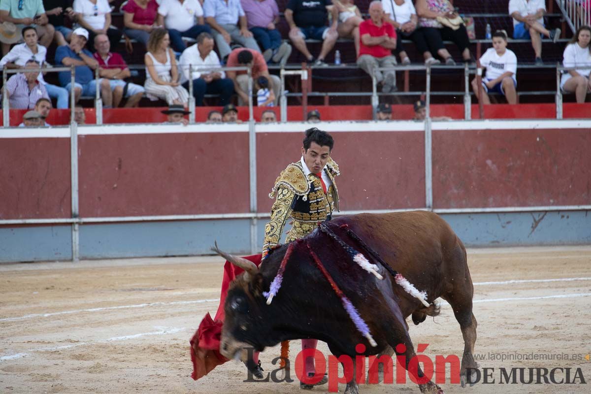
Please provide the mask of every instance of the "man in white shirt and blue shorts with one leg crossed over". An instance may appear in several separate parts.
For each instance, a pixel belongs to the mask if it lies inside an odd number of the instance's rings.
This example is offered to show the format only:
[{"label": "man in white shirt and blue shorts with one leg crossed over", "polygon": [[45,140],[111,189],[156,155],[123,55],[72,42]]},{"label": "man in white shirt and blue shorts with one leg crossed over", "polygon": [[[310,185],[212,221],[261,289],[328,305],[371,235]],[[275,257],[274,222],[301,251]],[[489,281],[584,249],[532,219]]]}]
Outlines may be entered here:
[{"label": "man in white shirt and blue shorts with one leg crossed over", "polygon": [[513,38],[528,40],[535,52],[535,64],[542,61],[542,38],[546,35],[554,43],[560,38],[560,29],[549,31],[544,27],[545,0],[509,0],[509,15],[513,18]]}]

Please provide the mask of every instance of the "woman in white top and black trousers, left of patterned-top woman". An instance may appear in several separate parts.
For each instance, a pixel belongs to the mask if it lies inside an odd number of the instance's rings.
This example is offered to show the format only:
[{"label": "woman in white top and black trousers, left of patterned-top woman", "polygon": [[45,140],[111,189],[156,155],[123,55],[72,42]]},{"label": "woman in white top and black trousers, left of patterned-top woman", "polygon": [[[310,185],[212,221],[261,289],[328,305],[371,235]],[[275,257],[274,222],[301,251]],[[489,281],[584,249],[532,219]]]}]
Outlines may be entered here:
[{"label": "woman in white top and black trousers, left of patterned-top woman", "polygon": [[404,50],[402,38],[413,41],[417,52],[423,54],[425,64],[439,64],[440,61],[433,57],[429,51],[423,29],[418,26],[417,11],[411,0],[382,0],[384,8],[384,20],[396,29],[396,50],[402,64],[410,64],[410,58]]}]

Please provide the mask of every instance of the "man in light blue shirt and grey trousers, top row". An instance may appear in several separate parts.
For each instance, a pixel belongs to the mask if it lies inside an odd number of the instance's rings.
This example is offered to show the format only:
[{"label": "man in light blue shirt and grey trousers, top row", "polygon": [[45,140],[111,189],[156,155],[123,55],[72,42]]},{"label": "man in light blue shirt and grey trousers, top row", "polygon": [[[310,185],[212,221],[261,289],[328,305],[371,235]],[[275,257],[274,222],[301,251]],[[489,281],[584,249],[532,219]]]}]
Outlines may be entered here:
[{"label": "man in light blue shirt and grey trousers, top row", "polygon": [[223,61],[226,61],[226,57],[232,51],[230,48],[232,41],[236,41],[243,47],[261,51],[248,30],[246,15],[240,0],[207,0],[204,12],[207,23],[213,28],[213,38],[216,40],[217,51]]}]

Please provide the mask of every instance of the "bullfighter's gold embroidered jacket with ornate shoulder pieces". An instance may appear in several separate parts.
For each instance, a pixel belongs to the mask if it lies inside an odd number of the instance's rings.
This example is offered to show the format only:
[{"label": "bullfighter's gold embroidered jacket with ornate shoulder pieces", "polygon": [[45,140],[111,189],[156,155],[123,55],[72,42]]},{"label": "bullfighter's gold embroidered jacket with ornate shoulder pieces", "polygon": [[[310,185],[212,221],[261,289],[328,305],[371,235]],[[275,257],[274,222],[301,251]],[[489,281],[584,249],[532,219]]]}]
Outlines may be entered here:
[{"label": "bullfighter's gold embroidered jacket with ornate shoulder pieces", "polygon": [[334,209],[339,210],[339,194],[335,183],[335,177],[340,174],[339,166],[329,158],[323,171],[326,171],[332,182],[326,194],[320,178],[314,174],[306,177],[300,161],[291,163],[281,171],[269,194],[269,198],[276,199],[271,207],[271,220],[265,226],[263,256],[267,255],[269,248],[279,245],[288,217],[293,220],[293,226],[285,242],[308,235],[318,223],[330,220]]}]

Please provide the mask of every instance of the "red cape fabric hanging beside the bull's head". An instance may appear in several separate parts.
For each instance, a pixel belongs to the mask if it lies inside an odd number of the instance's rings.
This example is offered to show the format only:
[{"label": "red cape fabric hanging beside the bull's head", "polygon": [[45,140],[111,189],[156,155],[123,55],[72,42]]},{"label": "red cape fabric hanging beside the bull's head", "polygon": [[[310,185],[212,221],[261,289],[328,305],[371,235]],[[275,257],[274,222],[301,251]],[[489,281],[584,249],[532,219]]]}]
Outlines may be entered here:
[{"label": "red cape fabric hanging beside the bull's head", "polygon": [[[245,259],[259,266],[262,255],[246,256]],[[203,317],[199,328],[190,340],[191,362],[193,362],[193,373],[191,373],[191,377],[194,380],[207,375],[212,369],[228,361],[219,352],[222,325],[225,317],[223,306],[230,284],[242,272],[244,272],[242,268],[238,268],[229,261],[226,261],[223,266],[222,292],[220,294],[220,305],[217,307],[216,317],[212,319],[208,312]]]}]

